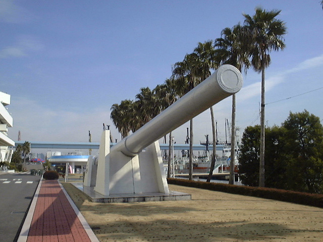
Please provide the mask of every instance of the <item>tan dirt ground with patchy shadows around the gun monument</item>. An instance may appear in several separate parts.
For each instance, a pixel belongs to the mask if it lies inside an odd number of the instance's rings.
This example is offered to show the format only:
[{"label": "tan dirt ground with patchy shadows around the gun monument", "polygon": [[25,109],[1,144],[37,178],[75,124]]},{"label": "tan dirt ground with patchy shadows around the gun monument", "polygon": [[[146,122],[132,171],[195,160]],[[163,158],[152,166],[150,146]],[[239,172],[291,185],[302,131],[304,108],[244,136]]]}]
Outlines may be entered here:
[{"label": "tan dirt ground with patchy shadows around the gun monument", "polygon": [[102,204],[62,183],[103,241],[323,241],[323,209],[170,185],[191,201]]}]

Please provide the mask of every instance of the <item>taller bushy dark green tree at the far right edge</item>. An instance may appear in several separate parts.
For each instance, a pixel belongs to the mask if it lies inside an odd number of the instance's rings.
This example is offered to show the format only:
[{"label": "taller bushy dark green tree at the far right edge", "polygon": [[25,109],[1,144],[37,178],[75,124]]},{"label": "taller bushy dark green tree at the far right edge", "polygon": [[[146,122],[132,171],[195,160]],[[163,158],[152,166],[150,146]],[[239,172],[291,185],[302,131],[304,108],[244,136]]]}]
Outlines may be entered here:
[{"label": "taller bushy dark green tree at the far right edge", "polygon": [[307,110],[290,112],[283,123],[288,162],[287,188],[323,193],[323,127]]}]

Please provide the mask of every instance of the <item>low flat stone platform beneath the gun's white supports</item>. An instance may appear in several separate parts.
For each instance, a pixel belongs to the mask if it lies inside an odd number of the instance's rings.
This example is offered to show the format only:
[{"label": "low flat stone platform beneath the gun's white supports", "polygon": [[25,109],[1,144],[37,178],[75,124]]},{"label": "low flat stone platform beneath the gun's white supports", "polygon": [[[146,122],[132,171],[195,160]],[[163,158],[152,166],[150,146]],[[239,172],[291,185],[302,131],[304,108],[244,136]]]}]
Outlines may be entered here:
[{"label": "low flat stone platform beneath the gun's white supports", "polygon": [[82,183],[71,183],[91,198],[96,203],[131,203],[148,201],[177,201],[191,200],[192,196],[187,193],[170,191],[170,193],[142,193],[142,194],[112,194],[103,196],[94,191],[93,187],[83,187]]}]

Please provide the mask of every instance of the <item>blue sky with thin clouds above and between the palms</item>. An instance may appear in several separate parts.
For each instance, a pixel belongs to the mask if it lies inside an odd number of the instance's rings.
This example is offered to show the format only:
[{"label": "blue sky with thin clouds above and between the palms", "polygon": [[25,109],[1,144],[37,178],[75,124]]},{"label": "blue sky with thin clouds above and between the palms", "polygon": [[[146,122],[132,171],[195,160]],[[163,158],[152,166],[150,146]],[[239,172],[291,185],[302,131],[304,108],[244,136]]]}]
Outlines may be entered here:
[{"label": "blue sky with thin clouds above and between the palms", "polygon": [[[7,1],[0,0],[0,91],[11,95],[9,136],[27,141],[98,142],[110,108],[172,74],[198,42],[221,37],[255,7],[282,10],[286,48],[272,52],[266,103],[323,87],[323,10],[308,1]],[[260,78],[248,70],[237,94],[237,126],[259,124]],[[289,112],[323,118],[323,89],[266,105],[268,126]],[[231,98],[214,107],[219,138]],[[186,127],[174,132],[184,143]],[[194,143],[211,135],[209,111],[194,118]],[[120,140],[113,128],[112,135]]]}]

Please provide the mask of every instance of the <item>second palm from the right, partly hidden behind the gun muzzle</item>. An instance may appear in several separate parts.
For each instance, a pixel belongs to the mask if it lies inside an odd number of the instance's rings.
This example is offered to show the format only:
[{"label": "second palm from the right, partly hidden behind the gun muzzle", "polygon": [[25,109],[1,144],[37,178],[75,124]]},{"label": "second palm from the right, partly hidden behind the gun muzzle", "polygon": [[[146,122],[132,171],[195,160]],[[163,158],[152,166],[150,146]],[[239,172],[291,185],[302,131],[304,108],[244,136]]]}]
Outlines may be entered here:
[{"label": "second palm from the right, partly hidden behind the gun muzzle", "polygon": [[[248,45],[243,41],[242,27],[238,24],[233,28],[222,30],[221,38],[216,39],[214,46],[217,49],[217,56],[221,64],[230,64],[240,72],[245,67],[245,72],[250,66],[248,59]],[[236,94],[232,95],[232,119],[231,119],[231,155],[230,155],[230,178],[229,183],[234,184],[235,167],[235,122],[236,122]],[[214,168],[214,165],[212,166]],[[211,176],[211,170],[210,175]]]}]

